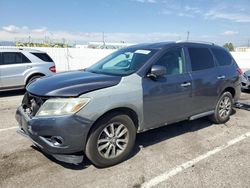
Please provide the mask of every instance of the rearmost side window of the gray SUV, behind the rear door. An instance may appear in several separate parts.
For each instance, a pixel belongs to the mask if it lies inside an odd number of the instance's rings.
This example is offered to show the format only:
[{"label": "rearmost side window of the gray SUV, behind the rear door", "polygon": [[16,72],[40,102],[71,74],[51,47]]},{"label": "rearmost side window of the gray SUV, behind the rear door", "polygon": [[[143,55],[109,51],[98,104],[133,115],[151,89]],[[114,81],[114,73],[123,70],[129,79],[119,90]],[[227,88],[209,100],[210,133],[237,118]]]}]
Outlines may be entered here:
[{"label": "rearmost side window of the gray SUV, behind the rear door", "polygon": [[232,63],[231,56],[225,50],[214,48],[212,52],[220,66],[230,65]]}]

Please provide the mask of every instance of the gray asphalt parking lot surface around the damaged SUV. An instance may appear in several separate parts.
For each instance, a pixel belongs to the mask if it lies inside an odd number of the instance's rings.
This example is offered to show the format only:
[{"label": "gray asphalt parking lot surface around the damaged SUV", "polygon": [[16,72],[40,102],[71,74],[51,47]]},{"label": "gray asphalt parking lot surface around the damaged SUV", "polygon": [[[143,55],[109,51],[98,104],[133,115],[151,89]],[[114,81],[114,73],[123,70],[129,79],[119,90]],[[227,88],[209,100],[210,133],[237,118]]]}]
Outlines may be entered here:
[{"label": "gray asphalt parking lot surface around the damaged SUV", "polygon": [[[104,169],[86,158],[80,165],[44,155],[16,133],[14,115],[24,91],[0,93],[0,187],[131,187],[250,132],[250,92],[226,124],[207,118],[184,121],[137,135],[132,155]],[[10,129],[9,129],[10,128]],[[199,161],[156,187],[250,187],[250,137]]]}]

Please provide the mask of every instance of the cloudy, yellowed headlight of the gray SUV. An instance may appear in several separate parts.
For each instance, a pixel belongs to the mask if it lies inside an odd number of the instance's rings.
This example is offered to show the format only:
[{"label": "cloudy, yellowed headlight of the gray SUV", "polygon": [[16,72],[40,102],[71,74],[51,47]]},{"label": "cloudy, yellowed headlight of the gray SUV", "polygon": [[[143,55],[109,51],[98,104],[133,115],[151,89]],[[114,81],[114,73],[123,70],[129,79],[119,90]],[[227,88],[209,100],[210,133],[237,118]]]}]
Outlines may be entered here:
[{"label": "cloudy, yellowed headlight of the gray SUV", "polygon": [[56,98],[48,99],[39,109],[36,116],[55,116],[74,114],[90,101],[89,98]]}]

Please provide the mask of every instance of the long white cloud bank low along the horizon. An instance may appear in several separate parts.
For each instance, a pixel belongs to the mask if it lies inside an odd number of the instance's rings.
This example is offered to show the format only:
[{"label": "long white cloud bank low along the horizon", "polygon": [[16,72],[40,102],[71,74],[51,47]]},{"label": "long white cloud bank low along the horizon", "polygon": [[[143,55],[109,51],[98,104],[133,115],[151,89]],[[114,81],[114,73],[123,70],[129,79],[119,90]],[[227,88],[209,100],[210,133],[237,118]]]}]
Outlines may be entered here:
[{"label": "long white cloud bank low along the horizon", "polygon": [[[105,33],[107,42],[156,42],[179,40],[181,34],[167,32],[152,32],[152,33]],[[68,31],[52,31],[46,27],[30,29],[26,26],[8,25],[0,29],[0,40],[22,40],[25,41],[29,37],[33,41],[54,40],[69,42],[82,41],[101,41],[102,33],[83,33],[83,32],[68,32]]]}]

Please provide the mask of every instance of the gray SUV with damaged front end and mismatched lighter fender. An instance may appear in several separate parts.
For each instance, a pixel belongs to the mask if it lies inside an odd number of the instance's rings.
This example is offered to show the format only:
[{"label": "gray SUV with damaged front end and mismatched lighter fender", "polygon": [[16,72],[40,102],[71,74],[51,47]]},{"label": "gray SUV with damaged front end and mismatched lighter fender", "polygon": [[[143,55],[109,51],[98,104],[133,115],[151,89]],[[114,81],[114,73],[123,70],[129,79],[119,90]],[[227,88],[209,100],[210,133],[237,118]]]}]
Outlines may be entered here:
[{"label": "gray SUV with damaged front end and mismatched lighter fender", "polygon": [[209,116],[229,120],[241,91],[240,69],[214,44],[141,44],[114,52],[84,71],[27,86],[17,109],[19,133],[58,160],[97,167],[124,161],[136,133]]}]

